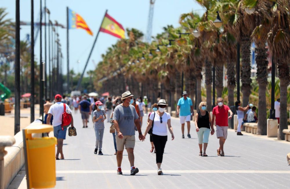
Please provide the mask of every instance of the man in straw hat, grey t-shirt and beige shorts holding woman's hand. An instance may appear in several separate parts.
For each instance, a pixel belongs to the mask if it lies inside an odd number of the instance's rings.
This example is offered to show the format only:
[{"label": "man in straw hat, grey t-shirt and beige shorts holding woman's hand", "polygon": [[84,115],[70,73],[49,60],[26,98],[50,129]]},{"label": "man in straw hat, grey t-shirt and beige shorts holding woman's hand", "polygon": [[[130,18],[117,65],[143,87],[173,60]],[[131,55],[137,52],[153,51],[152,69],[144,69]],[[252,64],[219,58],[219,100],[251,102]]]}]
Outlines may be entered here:
[{"label": "man in straw hat, grey t-shirt and beige shorts holding woman's hand", "polygon": [[124,146],[128,153],[129,162],[131,165],[131,175],[139,172],[134,166],[134,147],[135,147],[135,125],[139,132],[139,140],[144,141],[144,136],[141,132],[141,126],[137,111],[133,105],[134,100],[130,91],[122,94],[123,103],[117,106],[113,114],[113,122],[116,129],[116,144],[117,144],[117,174],[122,175],[122,158]]}]

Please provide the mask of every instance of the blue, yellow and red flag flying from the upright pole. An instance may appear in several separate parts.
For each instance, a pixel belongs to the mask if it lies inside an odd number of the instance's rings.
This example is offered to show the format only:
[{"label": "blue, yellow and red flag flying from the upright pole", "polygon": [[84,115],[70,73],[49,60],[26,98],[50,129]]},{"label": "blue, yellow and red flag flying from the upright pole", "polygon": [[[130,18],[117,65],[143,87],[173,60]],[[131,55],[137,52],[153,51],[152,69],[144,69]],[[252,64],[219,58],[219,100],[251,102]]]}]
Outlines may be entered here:
[{"label": "blue, yellow and red flag flying from the upright pole", "polygon": [[93,35],[93,32],[88,27],[84,19],[73,10],[68,10],[68,29],[81,28],[87,31],[88,34]]}]

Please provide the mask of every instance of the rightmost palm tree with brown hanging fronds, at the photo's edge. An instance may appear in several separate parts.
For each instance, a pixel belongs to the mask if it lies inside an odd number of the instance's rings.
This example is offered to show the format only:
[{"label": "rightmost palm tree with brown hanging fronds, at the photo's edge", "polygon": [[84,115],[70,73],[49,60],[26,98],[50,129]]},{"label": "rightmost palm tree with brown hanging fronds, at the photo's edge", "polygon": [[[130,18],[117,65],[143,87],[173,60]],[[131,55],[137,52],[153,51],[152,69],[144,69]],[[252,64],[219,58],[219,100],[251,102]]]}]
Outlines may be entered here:
[{"label": "rightmost palm tree with brown hanging fronds, at the photo's edge", "polygon": [[289,43],[289,4],[286,1],[274,2],[272,12],[272,26],[268,33],[268,45],[274,60],[278,65],[280,79],[280,124],[278,140],[284,140],[283,129],[288,129],[287,124],[287,87],[290,83],[288,62],[290,61]]}]

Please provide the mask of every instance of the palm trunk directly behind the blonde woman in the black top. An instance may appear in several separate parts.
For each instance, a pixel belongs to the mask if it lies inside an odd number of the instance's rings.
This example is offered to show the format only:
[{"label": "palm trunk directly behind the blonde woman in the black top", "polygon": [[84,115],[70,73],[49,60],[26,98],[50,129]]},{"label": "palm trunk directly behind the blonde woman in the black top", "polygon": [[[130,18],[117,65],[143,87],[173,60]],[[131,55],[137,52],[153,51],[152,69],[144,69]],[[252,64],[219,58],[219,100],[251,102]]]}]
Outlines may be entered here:
[{"label": "palm trunk directly behind the blonde woman in the black top", "polygon": [[212,102],[211,102],[211,89],[212,89],[212,65],[211,62],[206,59],[205,60],[205,84],[206,84],[206,111],[211,111]]}]

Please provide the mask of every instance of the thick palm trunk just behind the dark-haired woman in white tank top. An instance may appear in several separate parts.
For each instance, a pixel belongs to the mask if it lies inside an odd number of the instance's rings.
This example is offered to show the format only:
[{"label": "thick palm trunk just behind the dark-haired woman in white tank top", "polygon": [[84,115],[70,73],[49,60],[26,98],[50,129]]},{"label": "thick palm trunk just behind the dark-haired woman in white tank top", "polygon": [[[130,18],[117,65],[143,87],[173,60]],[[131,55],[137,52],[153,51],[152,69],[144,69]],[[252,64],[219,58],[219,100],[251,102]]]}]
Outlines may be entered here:
[{"label": "thick palm trunk just behind the dark-haired woman in white tank top", "polygon": [[[243,106],[248,104],[251,94],[251,41],[249,36],[241,37],[241,54],[242,54],[242,70],[241,70],[241,81],[242,81],[242,93],[243,93]],[[239,81],[238,81],[239,82]],[[245,112],[246,113],[246,112]]]}]

